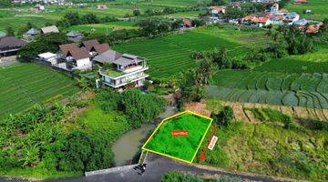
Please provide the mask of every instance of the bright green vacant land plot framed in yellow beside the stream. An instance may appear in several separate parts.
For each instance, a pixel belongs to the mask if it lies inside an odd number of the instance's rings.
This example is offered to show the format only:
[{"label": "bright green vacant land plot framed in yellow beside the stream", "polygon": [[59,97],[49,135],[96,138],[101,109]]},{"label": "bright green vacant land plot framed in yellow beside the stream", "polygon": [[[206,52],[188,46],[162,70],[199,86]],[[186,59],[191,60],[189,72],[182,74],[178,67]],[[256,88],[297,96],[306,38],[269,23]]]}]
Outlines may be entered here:
[{"label": "bright green vacant land plot framed in yellow beside the stream", "polygon": [[[149,137],[143,150],[192,163],[212,119],[190,111],[164,119]],[[187,131],[187,136],[173,136],[171,132]]]}]

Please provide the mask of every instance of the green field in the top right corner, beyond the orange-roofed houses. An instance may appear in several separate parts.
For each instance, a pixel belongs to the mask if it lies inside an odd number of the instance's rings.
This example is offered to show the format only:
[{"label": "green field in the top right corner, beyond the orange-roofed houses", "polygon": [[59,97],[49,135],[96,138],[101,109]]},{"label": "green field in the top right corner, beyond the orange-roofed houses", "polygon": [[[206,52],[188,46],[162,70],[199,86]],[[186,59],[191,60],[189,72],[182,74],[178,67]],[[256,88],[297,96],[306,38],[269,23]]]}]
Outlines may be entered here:
[{"label": "green field in the top right corner, beyond the orange-roofed houses", "polygon": [[[294,11],[307,19],[323,20],[324,18],[328,18],[327,5],[328,2],[326,0],[309,0],[304,5],[295,5],[291,3],[290,5],[287,5],[287,9],[289,11]],[[306,9],[310,9],[312,13],[303,14],[303,10]]]}]

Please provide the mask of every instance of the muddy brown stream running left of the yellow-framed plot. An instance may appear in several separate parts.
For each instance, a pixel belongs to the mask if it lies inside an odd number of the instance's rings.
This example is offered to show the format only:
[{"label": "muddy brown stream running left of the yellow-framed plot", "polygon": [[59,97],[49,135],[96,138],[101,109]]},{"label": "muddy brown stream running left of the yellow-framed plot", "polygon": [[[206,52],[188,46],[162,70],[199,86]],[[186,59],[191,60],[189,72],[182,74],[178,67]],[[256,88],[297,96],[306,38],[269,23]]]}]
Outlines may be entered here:
[{"label": "muddy brown stream running left of the yellow-framed plot", "polygon": [[176,106],[166,106],[165,111],[155,119],[155,122],[152,124],[144,124],[138,129],[130,130],[118,138],[112,147],[115,165],[121,167],[138,161],[140,147],[146,141],[149,132],[154,129],[162,119],[172,116],[176,112]]}]

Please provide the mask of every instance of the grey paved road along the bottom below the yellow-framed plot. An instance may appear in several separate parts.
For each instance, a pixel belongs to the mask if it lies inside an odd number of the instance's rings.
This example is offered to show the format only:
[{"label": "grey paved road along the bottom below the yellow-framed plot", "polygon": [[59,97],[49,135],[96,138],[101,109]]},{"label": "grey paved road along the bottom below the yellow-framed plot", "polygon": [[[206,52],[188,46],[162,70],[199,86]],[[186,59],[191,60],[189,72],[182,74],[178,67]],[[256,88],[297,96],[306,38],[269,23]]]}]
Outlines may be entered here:
[{"label": "grey paved road along the bottom below the yellow-framed plot", "polygon": [[[149,154],[146,161],[146,172],[141,176],[132,168],[123,171],[111,172],[89,177],[61,178],[56,180],[46,180],[48,182],[156,182],[160,181],[160,177],[168,171],[190,172],[197,175],[226,175],[231,177],[241,177],[246,181],[277,181],[272,177],[249,176],[243,174],[234,174],[230,172],[220,171],[218,169],[204,169],[191,166],[187,163],[180,163],[168,157],[159,157],[158,155]],[[1,181],[1,179],[0,179]],[[15,181],[15,180],[13,180]],[[24,180],[20,180],[24,181]]]}]

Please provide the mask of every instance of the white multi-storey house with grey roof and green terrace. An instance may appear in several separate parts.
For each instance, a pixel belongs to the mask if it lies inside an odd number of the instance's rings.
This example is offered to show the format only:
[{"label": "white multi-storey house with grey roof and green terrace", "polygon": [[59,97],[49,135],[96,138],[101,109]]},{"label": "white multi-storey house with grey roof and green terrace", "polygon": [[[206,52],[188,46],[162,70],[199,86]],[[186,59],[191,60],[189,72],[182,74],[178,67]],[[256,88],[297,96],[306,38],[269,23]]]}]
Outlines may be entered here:
[{"label": "white multi-storey house with grey roof and green terrace", "polygon": [[98,73],[105,86],[113,88],[124,88],[129,84],[143,86],[143,82],[149,77],[145,74],[149,67],[143,57],[108,50],[96,56],[93,61],[101,66]]}]

